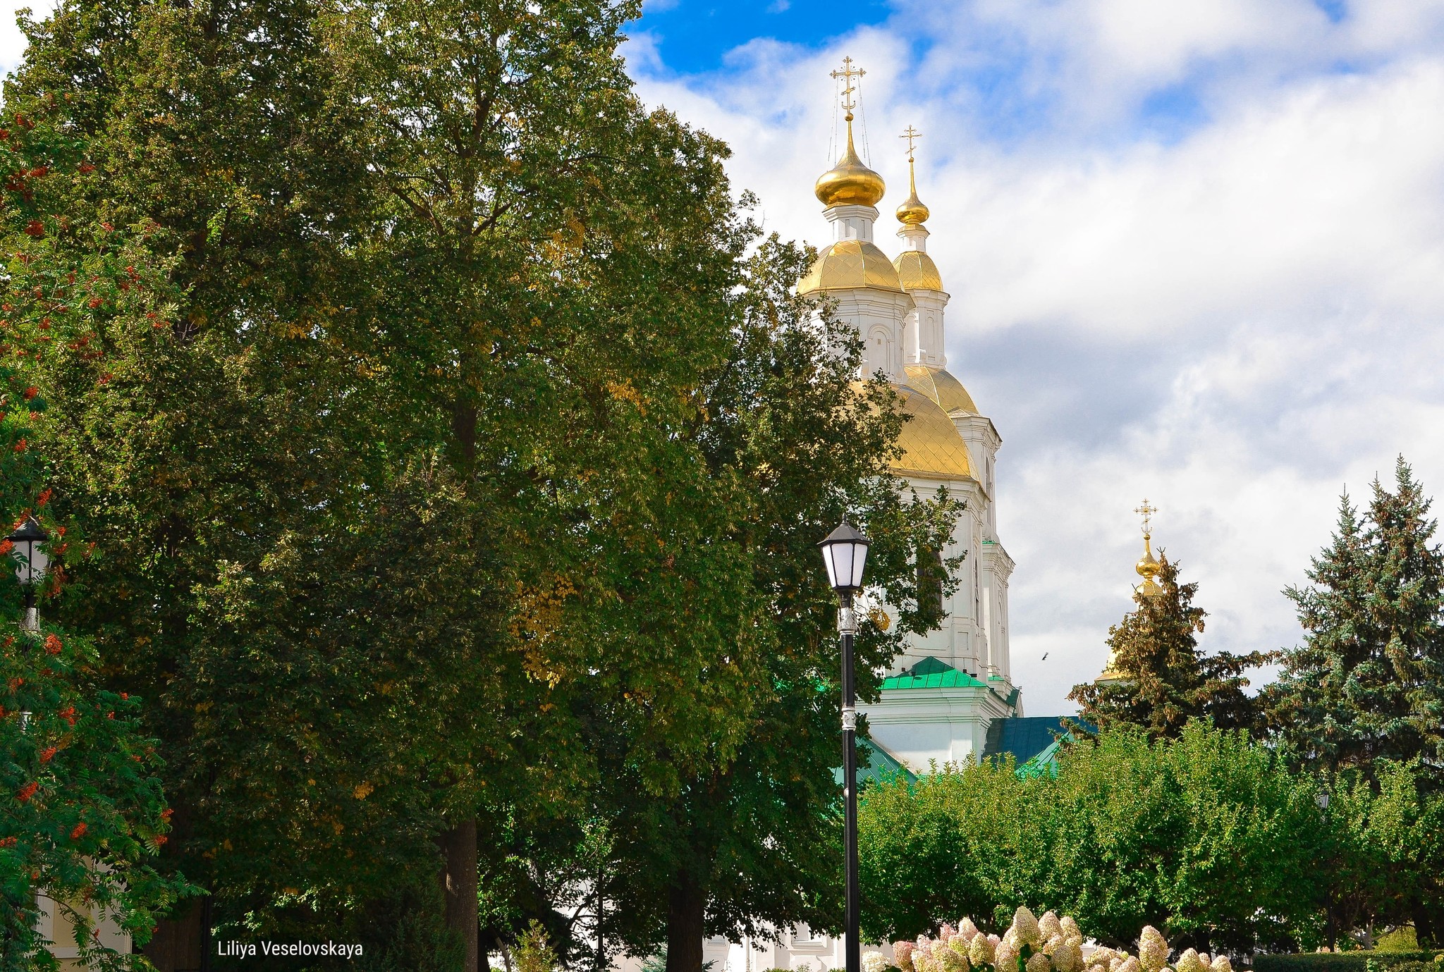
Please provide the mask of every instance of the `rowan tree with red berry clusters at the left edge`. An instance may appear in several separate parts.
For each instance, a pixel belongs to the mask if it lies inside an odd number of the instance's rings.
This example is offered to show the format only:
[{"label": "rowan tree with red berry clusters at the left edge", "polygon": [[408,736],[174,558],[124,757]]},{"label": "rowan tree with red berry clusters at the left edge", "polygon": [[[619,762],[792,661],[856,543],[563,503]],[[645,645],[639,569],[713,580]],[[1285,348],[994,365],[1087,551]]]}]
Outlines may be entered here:
[{"label": "rowan tree with red berry clusters at the left edge", "polygon": [[[97,555],[56,514],[43,443],[48,397],[59,390],[33,381],[46,364],[79,361],[91,370],[81,394],[103,389],[114,341],[157,339],[152,322],[168,302],[152,289],[163,261],[146,248],[144,227],[117,231],[56,212],[56,198],[91,176],[81,143],[9,116],[0,170],[0,524],[9,533],[33,516],[49,533],[51,569],[33,591],[43,617],[85,596],[71,581]],[[170,829],[163,764],[142,729],[140,699],[104,686],[84,637],[48,621],[35,631],[17,624],[12,553],[0,539],[0,968],[58,969],[53,945],[74,947],[90,968],[139,969],[140,958],[116,950],[98,926],[108,917],[144,945],[156,919],[193,891],[156,869]]]}]

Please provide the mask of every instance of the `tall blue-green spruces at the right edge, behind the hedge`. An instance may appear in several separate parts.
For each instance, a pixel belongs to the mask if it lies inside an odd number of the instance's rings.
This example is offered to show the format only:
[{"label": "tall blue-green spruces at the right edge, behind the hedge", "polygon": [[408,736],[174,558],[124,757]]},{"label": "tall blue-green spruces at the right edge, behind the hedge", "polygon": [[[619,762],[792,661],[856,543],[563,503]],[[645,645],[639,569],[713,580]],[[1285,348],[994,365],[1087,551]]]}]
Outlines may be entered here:
[{"label": "tall blue-green spruces at the right edge, behind the hedge", "polygon": [[1300,763],[1330,774],[1418,760],[1444,773],[1444,553],[1430,500],[1399,456],[1393,492],[1375,480],[1367,516],[1349,495],[1313,582],[1285,594],[1304,644],[1268,689],[1271,722]]}]

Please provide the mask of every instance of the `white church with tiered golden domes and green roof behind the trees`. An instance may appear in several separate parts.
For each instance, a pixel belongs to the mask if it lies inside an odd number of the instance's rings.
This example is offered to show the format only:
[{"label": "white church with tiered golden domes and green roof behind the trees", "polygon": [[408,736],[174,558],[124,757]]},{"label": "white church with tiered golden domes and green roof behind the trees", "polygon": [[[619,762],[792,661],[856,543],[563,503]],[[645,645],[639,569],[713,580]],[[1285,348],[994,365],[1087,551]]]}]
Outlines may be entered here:
[{"label": "white church with tiered golden domes and green roof behind the trees", "polygon": [[[1002,436],[947,367],[949,293],[927,254],[928,209],[918,198],[915,133],[908,127],[908,196],[897,208],[897,256],[878,246],[882,176],[858,156],[853,142],[855,79],[851,58],[833,78],[842,82],[845,149],[822,173],[814,194],[832,241],[799,282],[804,295],[827,298],[833,313],[864,341],[859,378],[881,371],[892,383],[908,420],[902,455],[892,469],[920,495],[966,501],[943,552],[963,555],[957,589],[943,602],[943,622],[914,637],[882,682],[881,699],[859,705],[866,715],[871,774],[923,776],[933,765],[1011,754],[1019,771],[1035,771],[1057,748],[1061,716],[1027,718],[1008,653],[1008,581],[1014,562],[998,536],[996,468]],[[882,605],[888,611],[887,605]],[[840,773],[840,771],[839,771]],[[884,949],[890,950],[890,949]],[[703,960],[718,972],[843,966],[843,943],[806,927],[778,940],[729,943],[709,939]]]}]

